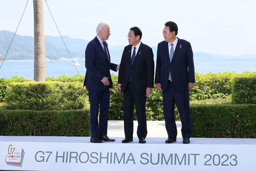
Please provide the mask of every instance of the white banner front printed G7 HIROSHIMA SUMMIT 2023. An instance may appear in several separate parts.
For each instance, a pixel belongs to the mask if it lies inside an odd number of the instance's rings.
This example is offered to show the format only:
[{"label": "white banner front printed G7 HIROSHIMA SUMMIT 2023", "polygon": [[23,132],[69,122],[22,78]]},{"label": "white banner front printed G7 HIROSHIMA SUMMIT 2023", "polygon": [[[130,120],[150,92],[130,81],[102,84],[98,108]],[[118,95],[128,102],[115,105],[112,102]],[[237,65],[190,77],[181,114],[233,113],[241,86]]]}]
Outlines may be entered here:
[{"label": "white banner front printed G7 HIROSHIMA SUMMIT 2023", "polygon": [[241,171],[256,169],[256,145],[0,141],[0,170]]}]

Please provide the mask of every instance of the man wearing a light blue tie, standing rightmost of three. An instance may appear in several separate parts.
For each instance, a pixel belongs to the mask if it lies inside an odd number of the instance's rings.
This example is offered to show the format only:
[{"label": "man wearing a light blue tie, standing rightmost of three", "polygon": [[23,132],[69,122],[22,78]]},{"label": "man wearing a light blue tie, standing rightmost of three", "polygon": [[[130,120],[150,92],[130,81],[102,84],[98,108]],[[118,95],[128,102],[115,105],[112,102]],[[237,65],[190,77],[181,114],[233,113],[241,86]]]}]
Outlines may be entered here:
[{"label": "man wearing a light blue tie, standing rightmost of three", "polygon": [[183,143],[190,143],[191,119],[189,108],[189,89],[194,87],[195,74],[193,52],[189,42],[176,37],[178,26],[166,22],[164,41],[157,47],[155,83],[162,89],[164,119],[168,133],[166,143],[176,141],[177,127],[174,117],[174,106],[178,108],[182,122]]}]

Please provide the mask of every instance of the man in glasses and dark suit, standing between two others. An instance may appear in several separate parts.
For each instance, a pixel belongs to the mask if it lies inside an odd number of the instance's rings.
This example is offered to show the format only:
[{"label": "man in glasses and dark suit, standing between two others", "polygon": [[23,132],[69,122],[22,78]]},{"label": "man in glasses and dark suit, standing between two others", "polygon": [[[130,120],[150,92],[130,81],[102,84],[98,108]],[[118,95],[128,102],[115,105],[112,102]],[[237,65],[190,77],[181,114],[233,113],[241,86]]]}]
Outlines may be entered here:
[{"label": "man in glasses and dark suit, standing between two others", "polygon": [[[124,134],[122,143],[133,141],[134,103],[138,119],[139,143],[146,143],[146,96],[154,86],[154,55],[152,48],[140,42],[142,32],[138,27],[128,32],[129,45],[124,48],[118,74],[117,92],[121,90],[124,109]],[[122,89],[121,89],[122,85]]]}]

